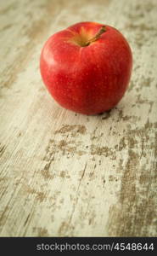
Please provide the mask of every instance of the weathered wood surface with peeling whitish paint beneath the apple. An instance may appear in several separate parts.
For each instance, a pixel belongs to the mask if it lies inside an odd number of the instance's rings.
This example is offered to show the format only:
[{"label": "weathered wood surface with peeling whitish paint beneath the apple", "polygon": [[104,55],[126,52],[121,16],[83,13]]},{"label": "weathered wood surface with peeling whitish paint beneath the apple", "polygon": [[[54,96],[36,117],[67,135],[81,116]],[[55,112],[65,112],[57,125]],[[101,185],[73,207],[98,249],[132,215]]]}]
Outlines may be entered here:
[{"label": "weathered wood surface with peeling whitish paint beneath the apple", "polygon": [[[157,236],[157,2],[0,2],[0,236]],[[110,113],[60,108],[45,90],[46,39],[81,20],[132,47],[126,95]]]}]

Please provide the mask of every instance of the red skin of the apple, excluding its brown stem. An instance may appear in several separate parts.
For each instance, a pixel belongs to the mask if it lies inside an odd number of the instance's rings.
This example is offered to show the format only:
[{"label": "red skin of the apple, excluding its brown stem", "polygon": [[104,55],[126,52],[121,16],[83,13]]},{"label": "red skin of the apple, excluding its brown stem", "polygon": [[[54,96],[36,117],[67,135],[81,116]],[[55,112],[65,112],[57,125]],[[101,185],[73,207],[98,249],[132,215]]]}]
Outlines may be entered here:
[{"label": "red skin of the apple, excluding its brown stem", "polygon": [[[102,26],[106,31],[93,43]],[[112,26],[81,22],[56,32],[43,46],[42,80],[56,102],[76,113],[103,113],[120,102],[132,73],[132,51]]]}]

